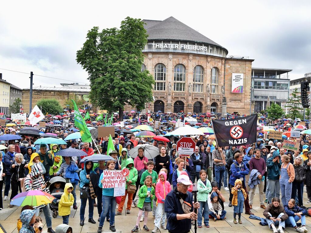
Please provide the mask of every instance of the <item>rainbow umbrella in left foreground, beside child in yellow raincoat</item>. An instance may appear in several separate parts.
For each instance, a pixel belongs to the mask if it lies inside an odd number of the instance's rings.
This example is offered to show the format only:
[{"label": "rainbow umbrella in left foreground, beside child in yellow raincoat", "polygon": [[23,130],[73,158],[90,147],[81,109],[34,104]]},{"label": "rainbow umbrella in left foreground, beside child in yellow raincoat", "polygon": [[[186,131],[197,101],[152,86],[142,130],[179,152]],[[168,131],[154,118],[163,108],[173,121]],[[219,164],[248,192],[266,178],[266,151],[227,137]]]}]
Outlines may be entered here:
[{"label": "rainbow umbrella in left foreground, beside child in yellow raincoat", "polygon": [[52,203],[55,198],[46,192],[40,190],[30,190],[22,192],[13,197],[10,205],[16,206],[40,206]]}]

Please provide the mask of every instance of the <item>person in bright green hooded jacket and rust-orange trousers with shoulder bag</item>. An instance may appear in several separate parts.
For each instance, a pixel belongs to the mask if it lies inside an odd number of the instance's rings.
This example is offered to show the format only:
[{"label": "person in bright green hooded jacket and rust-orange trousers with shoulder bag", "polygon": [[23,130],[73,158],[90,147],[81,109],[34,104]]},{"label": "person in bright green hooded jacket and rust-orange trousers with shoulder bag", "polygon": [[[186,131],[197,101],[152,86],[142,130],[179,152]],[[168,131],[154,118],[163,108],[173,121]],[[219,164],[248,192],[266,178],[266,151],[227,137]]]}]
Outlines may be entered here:
[{"label": "person in bright green hooded jacket and rust-orange trousers with shoulder bag", "polygon": [[125,199],[126,196],[128,195],[128,203],[127,203],[127,207],[126,207],[126,213],[129,214],[131,213],[131,205],[133,202],[133,194],[132,193],[128,193],[128,185],[132,184],[135,185],[138,175],[137,175],[137,169],[134,167],[134,161],[132,158],[128,158],[126,160],[126,168],[128,168],[128,170],[130,171],[129,175],[125,177],[126,180],[126,184],[125,184],[125,195],[122,196],[121,198],[121,203],[119,204],[119,208],[118,211],[116,212],[115,215],[120,215],[122,214],[122,210],[123,210],[123,206],[125,203]]}]

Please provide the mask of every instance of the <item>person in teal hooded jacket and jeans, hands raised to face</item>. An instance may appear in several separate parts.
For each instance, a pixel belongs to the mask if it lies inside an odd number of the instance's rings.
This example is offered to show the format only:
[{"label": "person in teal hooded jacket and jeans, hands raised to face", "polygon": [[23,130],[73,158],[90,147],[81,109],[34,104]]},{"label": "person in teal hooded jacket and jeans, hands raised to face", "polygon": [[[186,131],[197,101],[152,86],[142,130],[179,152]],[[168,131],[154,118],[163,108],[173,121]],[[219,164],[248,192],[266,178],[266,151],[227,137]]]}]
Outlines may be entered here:
[{"label": "person in teal hooded jacket and jeans, hands raised to face", "polygon": [[280,198],[280,168],[281,168],[281,156],[275,150],[272,157],[267,159],[267,178],[269,183],[268,190],[268,201],[267,203],[272,203],[272,198]]}]

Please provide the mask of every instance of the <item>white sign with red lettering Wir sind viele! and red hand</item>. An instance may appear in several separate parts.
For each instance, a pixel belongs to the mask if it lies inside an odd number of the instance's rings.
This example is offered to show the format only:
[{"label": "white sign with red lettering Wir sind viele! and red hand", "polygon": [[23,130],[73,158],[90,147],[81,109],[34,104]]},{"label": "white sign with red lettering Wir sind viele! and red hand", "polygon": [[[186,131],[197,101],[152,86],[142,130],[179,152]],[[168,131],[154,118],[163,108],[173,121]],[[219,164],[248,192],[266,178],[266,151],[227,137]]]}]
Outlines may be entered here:
[{"label": "white sign with red lettering Wir sind viele! and red hand", "polygon": [[104,170],[103,179],[103,189],[125,187],[125,176],[123,176],[123,170]]}]

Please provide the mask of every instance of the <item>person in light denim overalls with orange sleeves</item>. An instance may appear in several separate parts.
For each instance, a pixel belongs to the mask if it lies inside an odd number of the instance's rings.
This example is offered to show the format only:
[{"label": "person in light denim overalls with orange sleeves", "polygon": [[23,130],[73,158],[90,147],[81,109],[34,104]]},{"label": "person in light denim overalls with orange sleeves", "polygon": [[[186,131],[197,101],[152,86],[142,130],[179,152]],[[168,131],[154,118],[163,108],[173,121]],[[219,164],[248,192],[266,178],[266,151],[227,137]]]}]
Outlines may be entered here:
[{"label": "person in light denim overalls with orange sleeves", "polygon": [[[282,195],[282,203],[286,205],[288,201],[291,199],[291,192],[292,192],[292,182],[295,179],[295,171],[293,165],[290,163],[290,158],[287,155],[283,155],[281,157],[283,162],[281,166],[281,176],[280,176],[280,188],[281,188],[281,195]],[[291,167],[290,167],[291,166]],[[290,174],[287,173],[287,168],[290,168],[290,171],[294,171],[294,173]]]}]

